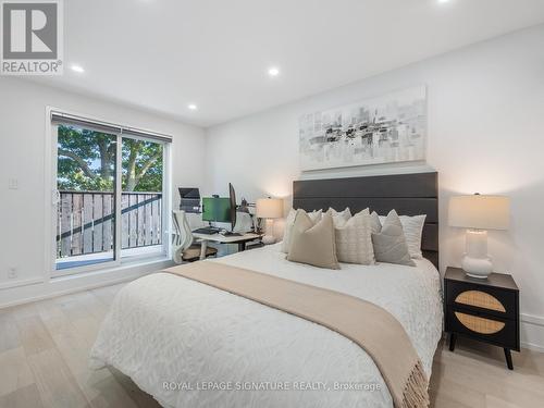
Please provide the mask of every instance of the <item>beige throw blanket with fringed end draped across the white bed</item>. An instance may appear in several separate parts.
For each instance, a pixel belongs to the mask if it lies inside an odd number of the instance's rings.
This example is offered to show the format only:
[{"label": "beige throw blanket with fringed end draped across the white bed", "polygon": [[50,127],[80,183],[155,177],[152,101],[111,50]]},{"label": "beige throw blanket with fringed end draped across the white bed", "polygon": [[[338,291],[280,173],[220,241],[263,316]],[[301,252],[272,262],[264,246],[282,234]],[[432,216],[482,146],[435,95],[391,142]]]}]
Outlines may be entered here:
[{"label": "beige throw blanket with fringed end draped across the white bed", "polygon": [[428,381],[400,323],[385,309],[338,292],[217,262],[165,270],[321,324],[374,360],[397,408],[429,406]]}]

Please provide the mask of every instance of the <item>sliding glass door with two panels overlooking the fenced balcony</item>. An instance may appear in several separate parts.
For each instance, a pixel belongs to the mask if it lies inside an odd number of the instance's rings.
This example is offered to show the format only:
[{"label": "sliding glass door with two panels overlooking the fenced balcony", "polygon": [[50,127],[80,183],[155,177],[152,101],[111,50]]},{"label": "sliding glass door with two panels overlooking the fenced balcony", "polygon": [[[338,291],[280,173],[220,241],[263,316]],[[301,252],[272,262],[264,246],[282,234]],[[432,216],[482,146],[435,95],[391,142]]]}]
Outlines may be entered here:
[{"label": "sliding glass door with two panels overlooking the fenced balcony", "polygon": [[168,143],[53,123],[54,274],[165,256]]}]

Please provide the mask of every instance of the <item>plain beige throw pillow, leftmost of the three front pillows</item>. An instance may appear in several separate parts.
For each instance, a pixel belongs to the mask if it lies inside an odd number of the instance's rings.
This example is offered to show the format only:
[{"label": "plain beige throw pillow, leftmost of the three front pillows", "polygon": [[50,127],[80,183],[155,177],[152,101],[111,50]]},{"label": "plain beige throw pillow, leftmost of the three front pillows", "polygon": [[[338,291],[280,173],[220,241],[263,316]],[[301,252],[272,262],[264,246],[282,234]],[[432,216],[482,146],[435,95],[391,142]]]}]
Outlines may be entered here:
[{"label": "plain beige throw pillow, leftmost of the three front pillows", "polygon": [[314,224],[305,211],[297,211],[287,260],[318,268],[339,269],[331,214],[325,213]]}]

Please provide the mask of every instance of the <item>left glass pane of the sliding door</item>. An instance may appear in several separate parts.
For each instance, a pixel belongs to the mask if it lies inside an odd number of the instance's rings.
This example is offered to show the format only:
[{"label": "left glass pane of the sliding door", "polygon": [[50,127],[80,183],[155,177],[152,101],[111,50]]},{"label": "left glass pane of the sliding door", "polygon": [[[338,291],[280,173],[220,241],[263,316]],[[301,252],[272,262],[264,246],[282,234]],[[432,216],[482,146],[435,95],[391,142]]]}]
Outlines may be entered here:
[{"label": "left glass pane of the sliding door", "polygon": [[63,124],[57,136],[57,270],[111,261],[116,136]]}]

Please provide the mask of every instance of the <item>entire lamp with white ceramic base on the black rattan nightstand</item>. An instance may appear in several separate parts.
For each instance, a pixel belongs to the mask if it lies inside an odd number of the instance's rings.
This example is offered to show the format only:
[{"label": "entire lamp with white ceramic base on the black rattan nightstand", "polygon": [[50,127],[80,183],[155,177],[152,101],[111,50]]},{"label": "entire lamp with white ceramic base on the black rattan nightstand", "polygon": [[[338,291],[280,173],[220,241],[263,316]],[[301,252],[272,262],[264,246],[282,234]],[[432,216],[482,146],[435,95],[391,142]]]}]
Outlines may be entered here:
[{"label": "entire lamp with white ceramic base on the black rattan nightstand", "polygon": [[455,196],[449,199],[449,225],[467,228],[467,251],[461,267],[471,277],[486,279],[493,271],[487,255],[487,230],[508,230],[510,200],[504,196]]}]

